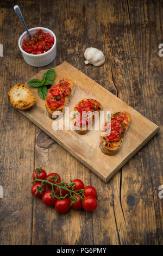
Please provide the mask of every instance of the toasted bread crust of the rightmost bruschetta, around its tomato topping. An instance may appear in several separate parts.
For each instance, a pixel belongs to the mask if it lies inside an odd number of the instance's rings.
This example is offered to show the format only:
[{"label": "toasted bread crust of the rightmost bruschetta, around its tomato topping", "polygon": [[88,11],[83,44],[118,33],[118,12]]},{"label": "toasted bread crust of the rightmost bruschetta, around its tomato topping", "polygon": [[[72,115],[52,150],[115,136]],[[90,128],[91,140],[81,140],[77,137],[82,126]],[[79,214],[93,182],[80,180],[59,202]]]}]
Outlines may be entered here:
[{"label": "toasted bread crust of the rightmost bruschetta, around its tomato topping", "polygon": [[[126,117],[128,118],[128,123],[126,124],[127,125],[127,128],[126,130],[124,131],[124,136],[126,135],[126,132],[127,132],[127,129],[129,127],[129,123],[130,123],[130,119],[131,119],[131,115],[126,112],[126,111],[123,111],[121,113],[125,113],[126,114]],[[114,117],[114,114],[111,115],[111,118]],[[123,138],[121,138],[119,141],[117,142],[106,142],[106,136],[101,136],[101,142],[100,142],[100,145],[99,147],[101,148],[102,152],[105,154],[105,155],[115,155],[117,153],[117,151],[120,149],[121,145],[122,145],[122,142],[124,141],[124,136]],[[109,147],[109,145],[112,144],[112,147]]]}]

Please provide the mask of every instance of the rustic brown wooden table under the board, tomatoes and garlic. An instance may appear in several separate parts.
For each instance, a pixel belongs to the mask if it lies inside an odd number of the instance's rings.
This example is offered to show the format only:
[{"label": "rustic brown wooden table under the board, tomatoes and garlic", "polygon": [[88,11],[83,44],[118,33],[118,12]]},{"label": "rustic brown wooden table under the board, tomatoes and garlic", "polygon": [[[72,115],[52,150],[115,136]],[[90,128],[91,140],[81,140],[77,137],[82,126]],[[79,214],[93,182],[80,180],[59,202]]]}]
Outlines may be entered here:
[{"label": "rustic brown wooden table under the board, tomatoes and garlic", "polygon": [[[160,126],[161,130],[108,184],[67,153],[16,109],[8,90],[42,68],[26,64],[18,48],[24,27],[14,12],[20,5],[27,26],[48,27],[57,36],[57,57],[66,60]],[[163,244],[162,42],[160,1],[1,1],[1,245]],[[85,66],[84,50],[97,47],[106,62]],[[2,54],[1,54],[2,55]],[[31,174],[42,166],[68,182],[79,178],[98,191],[98,208],[61,215],[30,193]]]}]

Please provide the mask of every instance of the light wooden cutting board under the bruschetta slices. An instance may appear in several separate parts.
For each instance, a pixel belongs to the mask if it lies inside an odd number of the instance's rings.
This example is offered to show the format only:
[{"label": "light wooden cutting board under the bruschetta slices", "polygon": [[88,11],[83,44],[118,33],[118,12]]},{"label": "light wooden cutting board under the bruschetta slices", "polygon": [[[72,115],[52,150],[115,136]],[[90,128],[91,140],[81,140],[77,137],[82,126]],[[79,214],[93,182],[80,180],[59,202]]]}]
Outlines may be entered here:
[{"label": "light wooden cutting board under the bruschetta slices", "polygon": [[[45,70],[41,70],[33,78],[42,79],[43,72]],[[55,72],[55,83],[58,83],[61,78],[70,78],[76,84],[76,91],[68,105],[70,112],[80,100],[86,97],[101,102],[103,111],[111,111],[111,113],[127,111],[131,114],[129,129],[121,149],[116,155],[108,156],[104,155],[99,148],[100,131],[93,129],[85,135],[78,135],[72,130],[54,131],[53,120],[48,117],[45,102],[37,94],[37,88],[29,86],[37,98],[35,107],[26,112],[20,111],[92,172],[108,182],[159,131],[159,127],[67,62],[55,67]]]}]

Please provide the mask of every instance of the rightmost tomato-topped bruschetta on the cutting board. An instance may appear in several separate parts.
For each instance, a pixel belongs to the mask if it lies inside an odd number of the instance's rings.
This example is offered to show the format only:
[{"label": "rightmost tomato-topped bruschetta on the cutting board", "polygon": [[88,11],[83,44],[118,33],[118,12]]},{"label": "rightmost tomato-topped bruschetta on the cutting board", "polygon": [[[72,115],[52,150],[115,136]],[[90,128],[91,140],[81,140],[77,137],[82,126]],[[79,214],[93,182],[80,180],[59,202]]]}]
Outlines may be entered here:
[{"label": "rightmost tomato-topped bruschetta on the cutting board", "polygon": [[111,114],[110,120],[105,122],[99,145],[104,154],[115,155],[120,149],[129,127],[130,119],[131,115],[124,111]]}]

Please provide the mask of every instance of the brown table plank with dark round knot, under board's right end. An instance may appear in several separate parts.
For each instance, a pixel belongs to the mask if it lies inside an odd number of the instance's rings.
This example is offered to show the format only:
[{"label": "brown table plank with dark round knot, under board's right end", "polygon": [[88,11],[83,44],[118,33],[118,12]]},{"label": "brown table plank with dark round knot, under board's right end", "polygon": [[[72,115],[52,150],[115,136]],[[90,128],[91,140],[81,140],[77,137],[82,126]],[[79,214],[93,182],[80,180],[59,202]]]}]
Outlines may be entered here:
[{"label": "brown table plank with dark round knot, under board's right end", "polygon": [[[137,64],[133,34],[130,27],[128,5],[123,1],[119,1],[116,4],[111,1],[105,1],[104,5],[100,5],[100,7],[102,22],[103,24],[105,23],[104,41],[105,44],[108,43],[109,61],[111,63],[114,83],[118,89],[118,96],[139,112],[144,113],[143,109],[148,109],[144,103],[148,93],[142,90],[142,81],[140,81],[139,66]],[[145,8],[148,9],[147,4]],[[99,8],[97,9],[99,10]],[[135,19],[134,13],[135,9],[133,8],[132,20]],[[148,35],[148,31],[146,33]],[[137,40],[138,38],[139,36]],[[144,33],[142,38],[145,38]],[[144,42],[142,40],[140,44],[146,47],[146,41]],[[149,53],[149,49],[147,52]],[[151,99],[149,102],[151,102]],[[154,140],[148,143],[148,147],[149,145],[152,148]],[[119,237],[121,244],[159,243],[155,200],[153,198],[153,181],[149,171],[153,158],[155,157],[155,151],[153,151],[153,157],[150,159],[148,147],[143,148],[139,154],[133,157],[122,168],[120,193],[119,197],[117,197],[118,203],[120,204],[115,205],[116,223],[117,229],[120,230]],[[158,164],[156,166],[159,168]],[[161,169],[158,172],[161,176]],[[113,182],[115,180],[116,176]],[[123,223],[117,214],[120,210],[123,212]],[[137,220],[143,221],[140,224]]]}]

